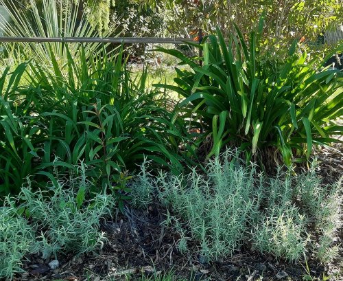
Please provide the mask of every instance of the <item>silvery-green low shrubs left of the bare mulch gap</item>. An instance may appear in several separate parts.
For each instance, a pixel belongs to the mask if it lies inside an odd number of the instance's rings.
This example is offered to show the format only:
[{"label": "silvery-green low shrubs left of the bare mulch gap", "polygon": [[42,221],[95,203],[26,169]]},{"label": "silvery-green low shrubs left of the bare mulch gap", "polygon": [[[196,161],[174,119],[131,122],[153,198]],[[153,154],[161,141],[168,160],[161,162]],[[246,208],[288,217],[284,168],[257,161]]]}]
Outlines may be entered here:
[{"label": "silvery-green low shrubs left of the bare mulch gap", "polygon": [[113,214],[115,196],[91,194],[90,167],[81,162],[76,168],[68,177],[56,169],[55,183],[36,192],[36,183],[27,178],[17,199],[5,198],[0,207],[0,278],[12,280],[27,254],[46,259],[102,248],[106,237],[99,230],[100,218]]}]

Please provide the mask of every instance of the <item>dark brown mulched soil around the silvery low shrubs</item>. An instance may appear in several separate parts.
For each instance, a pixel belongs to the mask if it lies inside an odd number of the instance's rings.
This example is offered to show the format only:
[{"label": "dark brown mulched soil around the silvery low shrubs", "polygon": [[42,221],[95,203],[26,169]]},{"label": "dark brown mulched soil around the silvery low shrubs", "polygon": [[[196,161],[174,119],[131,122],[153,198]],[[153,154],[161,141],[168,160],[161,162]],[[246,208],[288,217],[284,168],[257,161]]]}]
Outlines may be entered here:
[{"label": "dark brown mulched soil around the silvery low shrubs", "polygon": [[[327,183],[343,175],[343,146],[335,146],[335,149],[325,148],[317,153],[320,161],[317,172]],[[54,270],[48,266],[51,259],[29,256],[24,263],[26,272],[15,280],[125,280],[128,274],[134,278],[142,273],[152,276],[169,271],[174,271],[180,280],[252,281],[261,277],[263,280],[317,280],[305,279],[308,273],[304,264],[277,261],[254,249],[242,249],[231,258],[210,264],[202,263],[196,254],[182,255],[176,249],[178,234],[161,224],[165,213],[159,205],[145,211],[126,210],[125,215],[118,214],[113,221],[102,222],[108,243],[101,254],[59,256],[60,265]],[[342,231],[340,238],[342,244]],[[191,244],[189,248],[196,249],[196,243]],[[308,265],[312,278],[322,278],[323,273],[333,276],[330,280],[343,278],[338,276],[343,270],[342,261],[327,268],[314,261],[309,261]]]}]

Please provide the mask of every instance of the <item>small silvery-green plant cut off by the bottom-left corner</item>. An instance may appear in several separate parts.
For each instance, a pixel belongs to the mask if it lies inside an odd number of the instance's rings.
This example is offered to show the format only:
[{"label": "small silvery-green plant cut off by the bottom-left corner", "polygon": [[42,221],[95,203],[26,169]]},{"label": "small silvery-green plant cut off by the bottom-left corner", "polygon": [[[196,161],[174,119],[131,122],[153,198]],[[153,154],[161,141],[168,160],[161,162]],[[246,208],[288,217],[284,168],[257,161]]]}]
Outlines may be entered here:
[{"label": "small silvery-green plant cut off by the bottom-left corner", "polygon": [[0,207],[0,278],[9,280],[14,273],[22,271],[25,254],[36,250],[34,229],[16,212],[8,199]]}]

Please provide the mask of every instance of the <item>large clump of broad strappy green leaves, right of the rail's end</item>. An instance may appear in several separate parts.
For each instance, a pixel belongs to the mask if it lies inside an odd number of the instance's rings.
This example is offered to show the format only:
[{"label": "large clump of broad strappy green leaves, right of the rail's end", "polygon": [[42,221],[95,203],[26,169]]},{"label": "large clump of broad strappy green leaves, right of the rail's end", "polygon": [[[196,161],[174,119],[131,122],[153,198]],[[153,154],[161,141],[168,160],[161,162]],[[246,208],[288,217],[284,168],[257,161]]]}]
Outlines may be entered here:
[{"label": "large clump of broad strappy green leaves, right of the rail's end", "polygon": [[[259,28],[261,32],[261,23]],[[320,62],[316,57],[307,60],[295,41],[284,60],[265,61],[259,52],[260,34],[252,32],[246,43],[238,28],[236,32],[228,44],[219,30],[209,42],[204,38],[199,46],[202,67],[181,52],[158,48],[191,67],[176,69],[177,86],[165,87],[185,98],[180,103],[184,117],[205,137],[211,135],[208,157],[230,144],[247,150],[248,160],[272,148],[291,166],[292,161],[307,159],[313,144],[340,142],[330,135],[343,132],[335,124],[342,115],[343,75],[322,69],[331,55]]]}]

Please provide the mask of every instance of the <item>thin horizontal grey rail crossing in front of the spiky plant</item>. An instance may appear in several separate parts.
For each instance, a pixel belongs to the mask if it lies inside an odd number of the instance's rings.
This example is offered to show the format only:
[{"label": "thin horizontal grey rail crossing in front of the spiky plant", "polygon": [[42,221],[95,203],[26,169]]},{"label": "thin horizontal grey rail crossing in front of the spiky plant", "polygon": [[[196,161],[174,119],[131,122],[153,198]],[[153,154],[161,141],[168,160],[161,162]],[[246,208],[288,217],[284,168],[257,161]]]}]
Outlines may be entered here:
[{"label": "thin horizontal grey rail crossing in front of the spiky plant", "polygon": [[156,38],[156,37],[1,37],[0,42],[60,42],[60,43],[124,43],[124,44],[149,44],[149,43],[171,43],[183,44],[186,42],[198,43],[191,38]]}]

